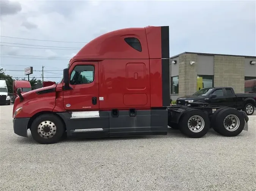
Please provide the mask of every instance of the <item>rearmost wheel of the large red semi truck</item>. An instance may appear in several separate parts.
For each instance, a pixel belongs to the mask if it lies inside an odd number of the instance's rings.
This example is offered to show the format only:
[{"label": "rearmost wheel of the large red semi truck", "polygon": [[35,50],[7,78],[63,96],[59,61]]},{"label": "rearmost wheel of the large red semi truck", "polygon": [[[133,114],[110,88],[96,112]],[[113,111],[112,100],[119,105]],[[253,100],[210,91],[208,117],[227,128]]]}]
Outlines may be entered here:
[{"label": "rearmost wheel of the large red semi truck", "polygon": [[[233,117],[232,116],[228,117],[229,115],[232,115]],[[237,122],[239,121],[239,123],[237,123],[236,121]],[[224,122],[225,124],[230,125],[229,127],[230,130],[228,130],[228,126],[224,125]],[[237,129],[232,129],[236,127],[236,124],[237,124]],[[218,113],[215,120],[214,129],[216,129],[216,132],[218,132],[223,136],[235,137],[239,135],[240,132],[243,131],[244,125],[245,125],[245,120],[242,112],[232,108],[225,108]]]}]

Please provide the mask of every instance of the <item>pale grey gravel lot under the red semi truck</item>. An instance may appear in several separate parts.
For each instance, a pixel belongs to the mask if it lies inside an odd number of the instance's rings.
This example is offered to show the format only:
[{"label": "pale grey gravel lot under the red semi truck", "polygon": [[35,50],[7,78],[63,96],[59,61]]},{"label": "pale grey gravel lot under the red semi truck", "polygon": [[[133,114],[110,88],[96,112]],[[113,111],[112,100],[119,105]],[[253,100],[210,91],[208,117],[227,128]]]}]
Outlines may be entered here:
[{"label": "pale grey gravel lot under the red semi truck", "polygon": [[40,145],[13,132],[0,106],[1,191],[254,191],[256,113],[249,131],[201,139],[167,136],[64,140]]}]

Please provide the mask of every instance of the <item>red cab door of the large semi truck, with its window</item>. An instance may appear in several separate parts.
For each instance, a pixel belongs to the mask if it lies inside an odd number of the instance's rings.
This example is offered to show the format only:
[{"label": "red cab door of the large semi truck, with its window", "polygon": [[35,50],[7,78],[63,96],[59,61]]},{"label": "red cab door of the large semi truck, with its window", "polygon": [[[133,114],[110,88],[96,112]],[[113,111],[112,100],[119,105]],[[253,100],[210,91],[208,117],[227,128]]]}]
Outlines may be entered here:
[{"label": "red cab door of the large semi truck, with its window", "polygon": [[71,88],[63,91],[64,108],[73,111],[98,110],[98,62],[75,62],[69,71]]}]

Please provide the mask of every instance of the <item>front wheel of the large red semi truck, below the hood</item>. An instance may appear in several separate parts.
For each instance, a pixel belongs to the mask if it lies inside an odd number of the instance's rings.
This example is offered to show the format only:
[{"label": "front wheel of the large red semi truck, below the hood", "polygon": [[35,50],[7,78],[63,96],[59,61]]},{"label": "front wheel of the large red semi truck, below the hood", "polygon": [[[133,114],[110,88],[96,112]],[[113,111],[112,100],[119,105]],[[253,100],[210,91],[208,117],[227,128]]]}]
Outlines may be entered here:
[{"label": "front wheel of the large red semi truck, below the hood", "polygon": [[[47,121],[47,123],[44,123],[46,125],[43,124],[43,122],[45,122],[45,121]],[[49,126],[47,126],[47,124]],[[54,125],[52,125],[52,124],[54,124]],[[50,125],[52,125],[52,126],[50,126]],[[39,130],[38,126],[39,126],[39,128],[41,128],[40,130]],[[42,131],[42,132],[38,132],[38,130]],[[32,125],[30,127],[30,131],[31,131],[31,135],[32,135],[33,139],[36,142],[41,143],[41,144],[53,144],[53,143],[57,143],[58,141],[60,141],[61,137],[64,134],[65,128],[64,128],[63,122],[60,120],[59,117],[57,117],[53,114],[43,114],[41,116],[38,116],[33,121]],[[55,134],[54,134],[54,132],[55,132]],[[42,136],[43,137],[50,136],[50,137],[46,139],[46,138],[43,138]]]}]

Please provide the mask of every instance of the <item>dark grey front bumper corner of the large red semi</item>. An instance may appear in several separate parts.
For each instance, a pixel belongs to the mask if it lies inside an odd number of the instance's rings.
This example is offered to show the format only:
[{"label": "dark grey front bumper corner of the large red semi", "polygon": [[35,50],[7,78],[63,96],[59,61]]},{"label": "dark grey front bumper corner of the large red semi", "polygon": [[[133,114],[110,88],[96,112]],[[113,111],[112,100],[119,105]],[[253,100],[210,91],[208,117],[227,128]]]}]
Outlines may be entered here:
[{"label": "dark grey front bumper corner of the large red semi", "polygon": [[30,118],[14,118],[13,119],[13,130],[14,133],[22,136],[28,137],[28,121]]}]

